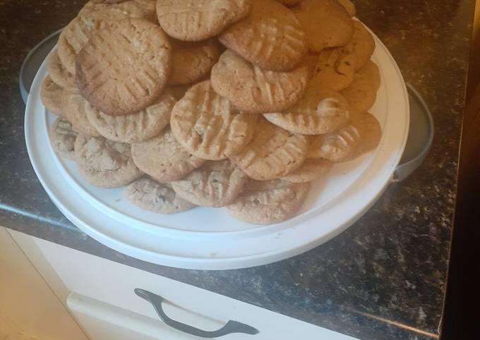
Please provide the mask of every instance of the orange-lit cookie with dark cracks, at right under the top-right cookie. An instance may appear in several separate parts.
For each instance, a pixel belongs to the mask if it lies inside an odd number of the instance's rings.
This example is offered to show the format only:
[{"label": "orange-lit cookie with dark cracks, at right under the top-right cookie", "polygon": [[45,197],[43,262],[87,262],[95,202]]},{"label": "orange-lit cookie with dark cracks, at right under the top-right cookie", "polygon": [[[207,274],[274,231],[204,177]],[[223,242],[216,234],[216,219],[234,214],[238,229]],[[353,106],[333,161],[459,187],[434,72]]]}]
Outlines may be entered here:
[{"label": "orange-lit cookie with dark cracks, at right under the top-right cookie", "polygon": [[352,54],[342,54],[340,49],[324,49],[318,54],[313,78],[321,87],[337,92],[352,85],[356,58]]}]

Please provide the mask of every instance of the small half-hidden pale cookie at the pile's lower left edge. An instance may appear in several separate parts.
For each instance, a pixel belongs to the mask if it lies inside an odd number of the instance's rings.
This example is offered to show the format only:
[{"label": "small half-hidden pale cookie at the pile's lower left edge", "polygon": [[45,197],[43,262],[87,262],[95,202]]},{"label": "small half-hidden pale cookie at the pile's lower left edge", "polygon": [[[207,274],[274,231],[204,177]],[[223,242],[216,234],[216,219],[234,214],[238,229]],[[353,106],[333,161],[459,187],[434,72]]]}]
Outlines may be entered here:
[{"label": "small half-hidden pale cookie at the pile's lower left edge", "polygon": [[49,131],[49,138],[54,152],[61,157],[75,160],[75,140],[77,134],[69,121],[58,117]]}]

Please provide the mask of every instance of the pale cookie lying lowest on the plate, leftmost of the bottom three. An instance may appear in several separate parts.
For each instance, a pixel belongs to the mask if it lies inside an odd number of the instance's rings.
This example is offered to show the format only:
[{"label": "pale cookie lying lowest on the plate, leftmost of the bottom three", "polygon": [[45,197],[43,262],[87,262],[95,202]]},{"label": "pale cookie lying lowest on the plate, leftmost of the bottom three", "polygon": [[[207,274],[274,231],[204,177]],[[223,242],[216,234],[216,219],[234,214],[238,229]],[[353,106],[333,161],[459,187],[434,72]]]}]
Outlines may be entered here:
[{"label": "pale cookie lying lowest on the plate, leftmost of the bottom three", "polygon": [[158,183],[140,178],[125,187],[126,199],[144,210],[159,214],[175,214],[190,210],[195,205],[180,198],[169,183]]}]

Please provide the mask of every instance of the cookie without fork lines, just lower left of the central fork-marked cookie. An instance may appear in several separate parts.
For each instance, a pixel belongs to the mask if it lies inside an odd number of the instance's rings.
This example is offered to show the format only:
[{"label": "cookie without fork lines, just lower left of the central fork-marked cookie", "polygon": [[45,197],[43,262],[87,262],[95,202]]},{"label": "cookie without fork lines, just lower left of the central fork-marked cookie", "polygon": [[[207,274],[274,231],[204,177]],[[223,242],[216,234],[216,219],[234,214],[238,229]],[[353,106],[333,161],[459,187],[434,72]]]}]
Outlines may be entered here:
[{"label": "cookie without fork lines, just lower left of the central fork-marked cookie", "polygon": [[184,150],[170,129],[145,142],[132,144],[133,162],[157,181],[178,181],[197,169],[205,160]]}]

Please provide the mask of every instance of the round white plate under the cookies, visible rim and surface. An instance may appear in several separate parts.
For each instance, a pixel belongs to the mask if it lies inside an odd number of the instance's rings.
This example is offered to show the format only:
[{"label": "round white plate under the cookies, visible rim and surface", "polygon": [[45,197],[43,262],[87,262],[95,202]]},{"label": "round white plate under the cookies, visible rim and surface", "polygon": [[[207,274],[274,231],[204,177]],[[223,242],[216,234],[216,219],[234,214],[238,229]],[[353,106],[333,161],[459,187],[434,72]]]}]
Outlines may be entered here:
[{"label": "round white plate under the cookies, visible rim and surface", "polygon": [[313,183],[299,214],[271,226],[236,221],[222,209],[198,207],[160,215],[129,204],[122,188],[100,189],[83,181],[73,162],[59,159],[49,143],[55,116],[45,111],[33,81],[25,109],[25,140],[32,166],[52,201],[82,231],[121,253],[187,269],[235,269],[264,265],[316,247],[347,229],[390,183],[409,129],[407,89],[388,49],[376,39],[373,54],[382,83],[371,113],[383,130],[375,152],[336,164]]}]

